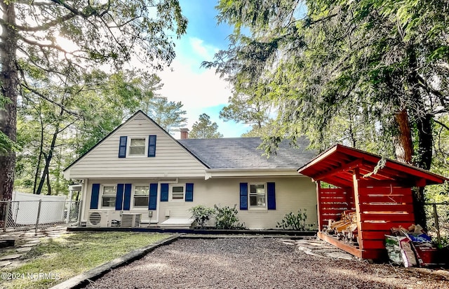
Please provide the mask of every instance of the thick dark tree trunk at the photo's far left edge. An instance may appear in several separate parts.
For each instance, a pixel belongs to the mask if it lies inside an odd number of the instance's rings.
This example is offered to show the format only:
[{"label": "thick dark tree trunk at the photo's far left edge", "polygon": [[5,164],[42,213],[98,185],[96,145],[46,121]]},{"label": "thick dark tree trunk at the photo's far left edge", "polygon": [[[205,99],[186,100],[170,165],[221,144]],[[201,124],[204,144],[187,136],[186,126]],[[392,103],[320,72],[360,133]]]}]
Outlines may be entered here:
[{"label": "thick dark tree trunk at the photo's far left edge", "polygon": [[[6,105],[0,109],[0,130],[9,137],[16,140],[16,114],[18,97],[18,68],[16,66],[17,34],[15,32],[15,8],[13,1],[0,2],[2,22],[0,42],[1,62],[1,97],[5,98]],[[0,199],[11,200],[13,196],[15,170],[15,153],[8,152],[0,155]],[[0,212],[4,217],[4,211]]]}]

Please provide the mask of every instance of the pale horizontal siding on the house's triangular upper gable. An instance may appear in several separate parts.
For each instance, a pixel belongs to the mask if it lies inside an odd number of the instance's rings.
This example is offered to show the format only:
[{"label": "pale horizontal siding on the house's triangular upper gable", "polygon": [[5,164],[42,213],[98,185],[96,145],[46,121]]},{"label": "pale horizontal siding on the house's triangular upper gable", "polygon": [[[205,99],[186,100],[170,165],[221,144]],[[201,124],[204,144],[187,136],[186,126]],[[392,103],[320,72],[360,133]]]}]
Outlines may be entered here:
[{"label": "pale horizontal siding on the house's triangular upper gable", "polygon": [[[156,135],[156,156],[119,158],[120,137],[128,137],[127,156],[130,140],[142,135]],[[147,138],[145,146],[147,147]],[[147,149],[147,148],[146,148]],[[146,156],[146,154],[145,154]],[[109,135],[97,147],[79,159],[66,172],[70,178],[111,178],[111,177],[204,177],[205,168],[172,137],[156,126],[146,116],[137,114],[121,128]]]}]

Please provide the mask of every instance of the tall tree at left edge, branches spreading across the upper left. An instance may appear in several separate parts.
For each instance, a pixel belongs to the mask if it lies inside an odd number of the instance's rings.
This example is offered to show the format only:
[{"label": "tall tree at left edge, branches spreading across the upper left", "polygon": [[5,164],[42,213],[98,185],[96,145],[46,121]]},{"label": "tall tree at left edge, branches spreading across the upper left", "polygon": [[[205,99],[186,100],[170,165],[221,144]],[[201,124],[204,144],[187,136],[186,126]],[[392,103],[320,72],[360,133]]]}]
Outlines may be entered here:
[{"label": "tall tree at left edge, branches spreading across the upper left", "polygon": [[[176,0],[1,1],[0,147],[16,140],[20,89],[34,91],[39,74],[69,75],[72,83],[90,65],[119,68],[133,53],[161,68],[174,58],[168,31],[185,33],[187,20]],[[61,39],[72,42],[64,48]],[[46,98],[46,95],[40,95]],[[65,109],[60,106],[61,109]],[[0,156],[0,199],[11,199],[15,154]]]}]

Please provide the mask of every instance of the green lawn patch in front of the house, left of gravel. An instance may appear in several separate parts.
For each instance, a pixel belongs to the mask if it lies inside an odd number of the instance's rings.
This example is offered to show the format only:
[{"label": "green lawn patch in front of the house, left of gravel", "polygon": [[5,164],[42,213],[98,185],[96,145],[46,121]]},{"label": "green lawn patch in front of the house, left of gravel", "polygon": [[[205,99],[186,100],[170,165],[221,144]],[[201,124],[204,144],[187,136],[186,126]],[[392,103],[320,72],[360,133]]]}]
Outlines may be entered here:
[{"label": "green lawn patch in front of the house, left of gravel", "polygon": [[[48,288],[168,236],[137,232],[85,231],[63,234],[60,238],[41,238],[38,246],[20,257],[23,264],[0,269],[0,287]],[[15,249],[8,249],[1,255],[12,254],[17,254]],[[39,273],[48,275],[39,278]],[[14,274],[15,280],[5,281],[5,274]],[[29,274],[33,274],[34,278]]]}]

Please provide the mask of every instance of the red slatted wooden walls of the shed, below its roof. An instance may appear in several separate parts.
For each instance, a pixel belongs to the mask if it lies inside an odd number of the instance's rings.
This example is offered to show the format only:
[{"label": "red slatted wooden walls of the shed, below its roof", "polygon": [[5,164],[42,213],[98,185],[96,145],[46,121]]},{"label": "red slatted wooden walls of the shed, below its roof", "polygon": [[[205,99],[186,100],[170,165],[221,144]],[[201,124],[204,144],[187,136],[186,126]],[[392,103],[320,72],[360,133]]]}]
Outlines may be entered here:
[{"label": "red slatted wooden walls of the shed, below its roof", "polygon": [[[372,182],[371,182],[372,183]],[[392,227],[408,228],[415,222],[412,190],[394,182],[382,182],[380,186],[363,185],[358,182],[357,196],[351,188],[318,188],[319,229],[328,220],[338,220],[344,210],[356,210],[358,220],[358,247],[342,241],[334,245],[358,257],[379,259],[384,257],[385,234],[391,234]],[[319,234],[323,236],[323,234]],[[326,241],[328,240],[326,236]],[[349,249],[350,248],[350,249]]]}]

